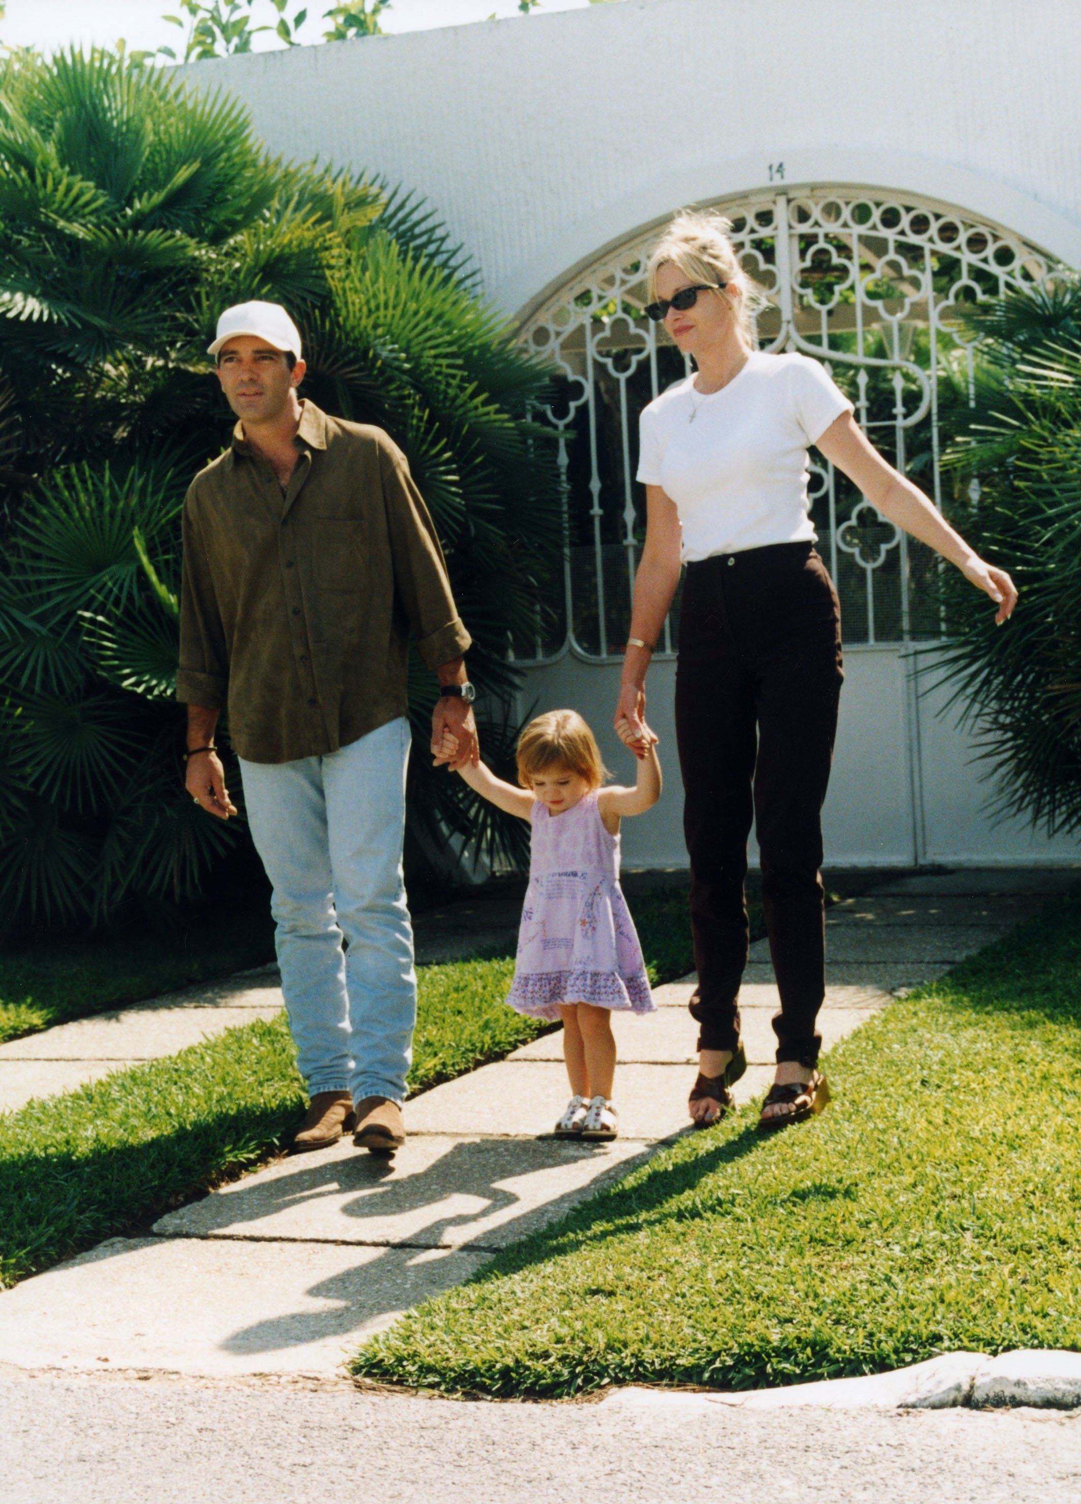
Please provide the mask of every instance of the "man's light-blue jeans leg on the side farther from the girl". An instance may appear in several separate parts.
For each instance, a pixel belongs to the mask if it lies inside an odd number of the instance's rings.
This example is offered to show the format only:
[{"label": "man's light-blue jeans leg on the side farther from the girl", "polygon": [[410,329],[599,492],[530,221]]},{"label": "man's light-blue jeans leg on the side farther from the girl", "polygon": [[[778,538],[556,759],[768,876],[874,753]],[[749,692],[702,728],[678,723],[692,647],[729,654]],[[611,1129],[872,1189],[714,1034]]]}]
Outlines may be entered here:
[{"label": "man's light-blue jeans leg on the side farther from the girl", "polygon": [[320,758],[241,763],[256,850],[274,893],[275,948],[308,1095],[349,1089],[349,1006]]}]

